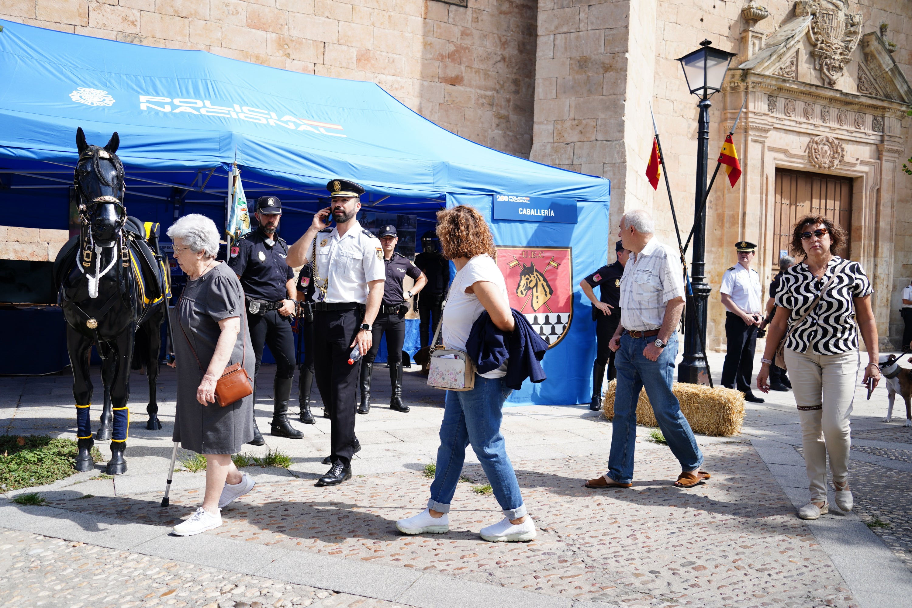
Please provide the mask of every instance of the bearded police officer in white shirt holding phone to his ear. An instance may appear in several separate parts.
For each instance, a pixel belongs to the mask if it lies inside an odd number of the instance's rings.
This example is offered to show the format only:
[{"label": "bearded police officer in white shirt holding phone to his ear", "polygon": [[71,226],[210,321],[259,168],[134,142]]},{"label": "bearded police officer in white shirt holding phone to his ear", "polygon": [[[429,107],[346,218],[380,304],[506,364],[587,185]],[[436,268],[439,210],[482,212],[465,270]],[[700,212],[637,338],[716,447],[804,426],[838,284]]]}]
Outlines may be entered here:
[{"label": "bearded police officer in white shirt holding phone to his ear", "polygon": [[[348,180],[330,180],[331,203],[288,248],[288,265],[314,263],[314,376],[329,408],[332,465],[318,485],[337,486],[351,478],[355,450],[355,397],[362,358],[348,361],[357,347],[364,355],[372,344],[371,325],[383,300],[386,268],[376,236],[356,220],[364,189]],[[336,222],[335,228],[329,228]]]}]

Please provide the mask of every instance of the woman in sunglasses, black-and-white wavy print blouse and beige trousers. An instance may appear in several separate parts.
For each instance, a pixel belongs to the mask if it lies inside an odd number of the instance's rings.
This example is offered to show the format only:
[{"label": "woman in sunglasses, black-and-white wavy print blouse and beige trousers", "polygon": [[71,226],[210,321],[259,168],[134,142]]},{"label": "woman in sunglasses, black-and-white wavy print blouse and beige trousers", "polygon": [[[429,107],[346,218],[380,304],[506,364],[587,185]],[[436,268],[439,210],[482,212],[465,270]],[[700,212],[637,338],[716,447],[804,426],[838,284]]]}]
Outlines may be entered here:
[{"label": "woman in sunglasses, black-and-white wavy print blouse and beige trousers", "polygon": [[870,378],[876,386],[880,380],[877,327],[871,310],[873,290],[861,264],[835,255],[844,247],[845,230],[828,218],[809,215],[794,225],[791,249],[794,255],[803,254],[804,260],[782,273],[776,314],[757,374],[757,388],[769,392],[770,365],[784,337],[785,364],[798,404],[811,489],[810,503],[798,511],[804,520],[816,520],[829,512],[827,454],[836,505],[852,510],[849,414],[860,365],[855,322],[869,361],[863,382]]}]

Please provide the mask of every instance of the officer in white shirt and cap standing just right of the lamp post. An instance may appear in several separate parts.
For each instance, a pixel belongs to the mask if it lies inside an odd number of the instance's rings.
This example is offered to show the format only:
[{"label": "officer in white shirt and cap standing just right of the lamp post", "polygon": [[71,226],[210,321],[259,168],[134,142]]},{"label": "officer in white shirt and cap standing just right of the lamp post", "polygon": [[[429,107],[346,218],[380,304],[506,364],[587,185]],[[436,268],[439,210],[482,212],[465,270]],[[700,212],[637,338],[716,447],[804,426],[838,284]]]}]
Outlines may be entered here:
[{"label": "officer in white shirt and cap standing just right of the lamp post", "polygon": [[757,349],[757,328],[763,323],[760,274],[751,269],[757,252],[752,242],[735,243],[738,263],[722,275],[722,305],[725,314],[725,338],[728,350],[722,366],[722,386],[737,388],[752,403],[763,403],[751,392],[753,353]]}]

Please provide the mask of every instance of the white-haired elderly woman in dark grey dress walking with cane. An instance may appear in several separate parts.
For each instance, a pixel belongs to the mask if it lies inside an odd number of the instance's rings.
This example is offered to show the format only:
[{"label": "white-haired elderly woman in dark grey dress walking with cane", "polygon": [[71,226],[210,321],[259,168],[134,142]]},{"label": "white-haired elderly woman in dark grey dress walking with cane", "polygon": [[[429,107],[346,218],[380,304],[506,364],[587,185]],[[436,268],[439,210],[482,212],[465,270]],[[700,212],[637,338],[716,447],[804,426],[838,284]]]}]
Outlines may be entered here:
[{"label": "white-haired elderly woman in dark grey dress walking with cane", "polygon": [[209,218],[192,213],[168,229],[174,258],[187,275],[181,298],[171,311],[171,339],[177,366],[175,442],[206,458],[202,506],[174,526],[192,536],[222,525],[221,511],[254,487],[231,455],[254,438],[254,397],[220,407],[215,386],[225,367],[235,363],[254,376],[255,356],[244,321],[244,293],[227,264],[215,260],[219,231]]}]

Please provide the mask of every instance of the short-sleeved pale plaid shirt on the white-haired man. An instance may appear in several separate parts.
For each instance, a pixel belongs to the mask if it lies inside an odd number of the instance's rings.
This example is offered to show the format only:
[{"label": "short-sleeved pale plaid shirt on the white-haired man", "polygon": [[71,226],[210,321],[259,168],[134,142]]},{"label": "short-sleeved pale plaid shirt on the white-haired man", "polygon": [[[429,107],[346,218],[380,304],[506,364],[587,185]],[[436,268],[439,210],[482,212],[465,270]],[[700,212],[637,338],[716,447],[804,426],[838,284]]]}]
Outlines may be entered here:
[{"label": "short-sleeved pale plaid shirt on the white-haired man", "polygon": [[631,253],[621,276],[621,326],[650,331],[662,326],[669,300],[684,297],[684,271],[677,251],[652,238]]}]

